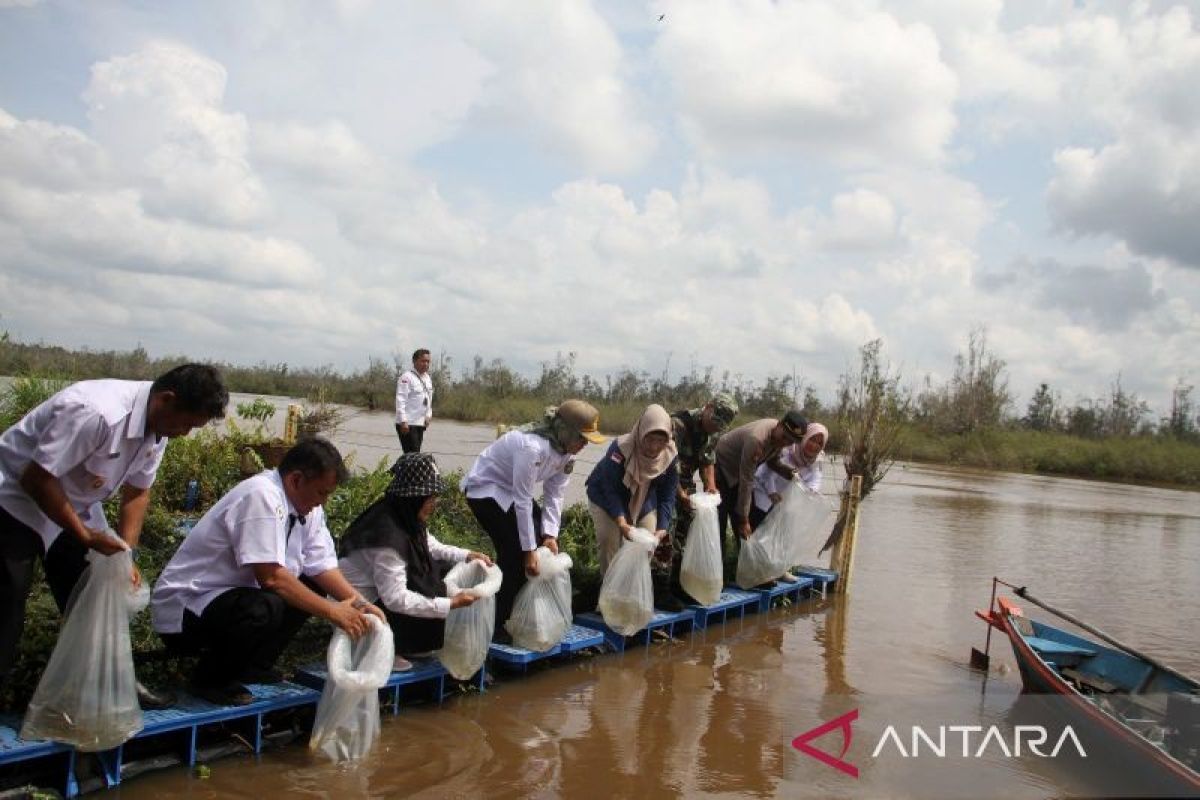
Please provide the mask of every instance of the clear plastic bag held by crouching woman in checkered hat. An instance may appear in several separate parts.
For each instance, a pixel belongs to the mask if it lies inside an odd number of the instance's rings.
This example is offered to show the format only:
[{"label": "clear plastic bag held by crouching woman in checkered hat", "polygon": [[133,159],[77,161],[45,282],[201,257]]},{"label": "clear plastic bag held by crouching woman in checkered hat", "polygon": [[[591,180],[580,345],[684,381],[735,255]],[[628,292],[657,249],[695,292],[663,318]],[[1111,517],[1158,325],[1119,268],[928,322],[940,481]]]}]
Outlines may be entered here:
[{"label": "clear plastic bag held by crouching woman in checkered hat", "polygon": [[451,608],[446,616],[445,636],[438,661],[458,680],[467,680],[484,666],[487,646],[496,626],[496,593],[503,579],[500,567],[485,566],[470,560],[456,564],[445,577],[446,596],[460,591],[475,595],[475,602],[463,608]]}]

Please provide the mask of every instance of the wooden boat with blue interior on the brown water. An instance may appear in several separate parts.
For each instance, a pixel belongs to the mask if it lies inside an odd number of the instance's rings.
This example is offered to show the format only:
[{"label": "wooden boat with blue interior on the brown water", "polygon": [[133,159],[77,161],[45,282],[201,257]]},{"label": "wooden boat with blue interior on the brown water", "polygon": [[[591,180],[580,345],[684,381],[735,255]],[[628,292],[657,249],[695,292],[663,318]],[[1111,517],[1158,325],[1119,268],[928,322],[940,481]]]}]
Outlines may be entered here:
[{"label": "wooden boat with blue interior on the brown water", "polygon": [[[1008,637],[1025,691],[1063,698],[1055,708],[1074,729],[1099,742],[1106,756],[1126,762],[1154,794],[1200,795],[1200,681],[1043,603],[1024,588],[1014,587],[1014,594],[1096,637],[1032,620],[1012,600],[996,597],[994,589],[992,607],[976,614]],[[991,628],[989,644],[990,639]],[[978,650],[972,656],[977,666],[977,656],[986,664]]]}]

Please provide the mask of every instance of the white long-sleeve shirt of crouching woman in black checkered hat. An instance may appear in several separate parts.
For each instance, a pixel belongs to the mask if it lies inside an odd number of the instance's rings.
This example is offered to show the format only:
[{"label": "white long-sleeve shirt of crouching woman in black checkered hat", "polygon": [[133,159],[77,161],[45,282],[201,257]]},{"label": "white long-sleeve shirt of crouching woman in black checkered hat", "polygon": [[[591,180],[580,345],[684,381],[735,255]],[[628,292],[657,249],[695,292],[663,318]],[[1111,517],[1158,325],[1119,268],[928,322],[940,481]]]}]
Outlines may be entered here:
[{"label": "white long-sleeve shirt of crouching woman in black checkered hat", "polygon": [[[469,551],[443,545],[433,534],[426,536],[430,558],[434,561],[457,564],[467,560]],[[426,597],[408,588],[408,565],[391,547],[364,547],[342,557],[337,565],[364,599],[370,602],[382,600],[394,614],[445,619],[450,613],[449,597]]]}]

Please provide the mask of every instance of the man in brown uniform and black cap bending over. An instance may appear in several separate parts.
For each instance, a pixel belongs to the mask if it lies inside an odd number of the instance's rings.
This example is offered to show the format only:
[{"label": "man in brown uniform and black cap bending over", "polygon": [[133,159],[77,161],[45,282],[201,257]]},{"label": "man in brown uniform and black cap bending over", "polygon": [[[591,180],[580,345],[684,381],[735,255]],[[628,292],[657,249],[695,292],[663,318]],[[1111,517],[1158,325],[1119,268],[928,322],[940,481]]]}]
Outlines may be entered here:
[{"label": "man in brown uniform and black cap bending over", "polygon": [[809,421],[791,410],[779,421],[757,420],[722,435],[716,443],[716,488],[721,493],[719,509],[721,540],[725,521],[732,519],[733,533],[742,539],[750,535],[750,504],[754,500],[754,473],[766,463],[791,480],[796,470],[779,461],[784,447],[804,438]]}]

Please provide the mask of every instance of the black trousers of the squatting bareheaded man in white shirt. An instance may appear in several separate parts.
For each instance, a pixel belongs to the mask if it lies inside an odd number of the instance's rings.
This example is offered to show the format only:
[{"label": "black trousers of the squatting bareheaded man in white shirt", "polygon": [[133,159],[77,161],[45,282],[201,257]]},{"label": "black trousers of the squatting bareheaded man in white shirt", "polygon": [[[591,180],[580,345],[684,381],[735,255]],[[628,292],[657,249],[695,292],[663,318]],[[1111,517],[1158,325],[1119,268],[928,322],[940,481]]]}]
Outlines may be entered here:
[{"label": "black trousers of the squatting bareheaded man in white shirt", "polygon": [[[305,585],[324,594],[307,577]],[[184,612],[184,630],[162,633],[175,655],[200,656],[192,674],[197,686],[224,686],[248,670],[265,672],[288,646],[308,613],[266,589],[238,587],[217,595],[199,616]]]}]

